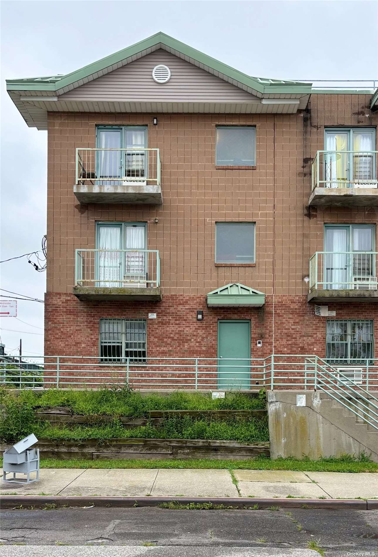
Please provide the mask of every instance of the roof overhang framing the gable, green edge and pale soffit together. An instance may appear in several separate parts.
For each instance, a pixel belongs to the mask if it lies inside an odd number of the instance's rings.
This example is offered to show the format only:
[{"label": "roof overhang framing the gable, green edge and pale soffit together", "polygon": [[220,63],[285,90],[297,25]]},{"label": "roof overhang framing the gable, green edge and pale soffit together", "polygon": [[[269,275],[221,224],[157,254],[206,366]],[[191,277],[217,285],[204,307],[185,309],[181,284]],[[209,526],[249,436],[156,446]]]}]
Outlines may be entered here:
[{"label": "roof overhang framing the gable, green edge and pale soffit together", "polygon": [[[260,102],[256,102],[255,99],[251,102],[221,103],[59,100],[59,97],[65,92],[117,70],[159,48],[239,87],[250,93],[251,97],[258,97]],[[48,111],[294,114],[298,109],[306,108],[311,93],[311,84],[248,76],[164,33],[156,33],[144,41],[71,72],[71,74],[7,80],[7,89],[28,126],[47,129]]]}]

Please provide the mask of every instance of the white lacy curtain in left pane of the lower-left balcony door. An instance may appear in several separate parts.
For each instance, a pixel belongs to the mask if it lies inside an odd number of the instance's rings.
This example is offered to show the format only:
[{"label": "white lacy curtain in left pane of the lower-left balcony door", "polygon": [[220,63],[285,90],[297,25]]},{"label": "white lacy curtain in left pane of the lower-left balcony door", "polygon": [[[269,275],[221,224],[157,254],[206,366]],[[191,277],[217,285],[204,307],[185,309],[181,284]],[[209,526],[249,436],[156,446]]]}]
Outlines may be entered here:
[{"label": "white lacy curtain in left pane of the lower-left balcony door", "polygon": [[[119,250],[121,229],[119,226],[99,227],[99,250]],[[120,251],[98,252],[99,279],[98,286],[122,286],[122,258]]]}]

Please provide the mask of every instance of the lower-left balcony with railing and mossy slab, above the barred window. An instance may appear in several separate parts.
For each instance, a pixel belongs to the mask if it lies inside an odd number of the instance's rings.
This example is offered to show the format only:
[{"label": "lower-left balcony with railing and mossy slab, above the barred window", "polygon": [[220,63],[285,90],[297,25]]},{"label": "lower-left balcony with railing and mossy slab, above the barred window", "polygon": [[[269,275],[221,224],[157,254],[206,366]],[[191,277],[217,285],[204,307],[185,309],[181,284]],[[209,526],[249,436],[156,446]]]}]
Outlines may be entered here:
[{"label": "lower-left balcony with railing and mossy slab, above the barred window", "polygon": [[159,252],[76,250],[72,292],[79,300],[160,302]]}]

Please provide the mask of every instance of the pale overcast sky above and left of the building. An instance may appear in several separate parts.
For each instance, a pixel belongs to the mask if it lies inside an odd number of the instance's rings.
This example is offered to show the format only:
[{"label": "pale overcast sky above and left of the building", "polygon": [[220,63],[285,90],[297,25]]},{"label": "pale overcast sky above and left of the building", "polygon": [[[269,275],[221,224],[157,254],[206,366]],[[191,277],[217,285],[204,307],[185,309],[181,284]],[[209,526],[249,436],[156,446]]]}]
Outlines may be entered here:
[{"label": "pale overcast sky above and left of the building", "polygon": [[[66,74],[158,31],[253,76],[378,79],[375,1],[12,0],[1,12],[1,260],[39,250],[46,233],[47,132],[27,127],[5,79]],[[1,272],[2,289],[43,299],[46,273],[26,258]],[[43,354],[43,304],[18,300],[0,324],[9,351],[22,338],[23,354]]]}]

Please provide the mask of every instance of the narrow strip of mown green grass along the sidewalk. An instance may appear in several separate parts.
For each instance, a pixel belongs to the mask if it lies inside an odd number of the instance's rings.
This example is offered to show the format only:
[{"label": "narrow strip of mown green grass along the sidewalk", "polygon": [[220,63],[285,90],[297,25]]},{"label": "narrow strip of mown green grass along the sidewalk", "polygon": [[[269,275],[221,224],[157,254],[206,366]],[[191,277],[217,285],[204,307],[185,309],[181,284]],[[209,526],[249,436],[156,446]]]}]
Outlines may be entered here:
[{"label": "narrow strip of mown green grass along the sidewalk", "polygon": [[378,472],[378,463],[356,460],[352,457],[322,458],[321,460],[296,460],[295,458],[258,457],[251,460],[211,460],[198,458],[188,460],[127,460],[123,458],[84,460],[72,458],[41,458],[41,468],[223,468],[230,470],[294,470],[309,472]]}]

